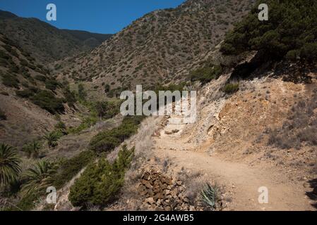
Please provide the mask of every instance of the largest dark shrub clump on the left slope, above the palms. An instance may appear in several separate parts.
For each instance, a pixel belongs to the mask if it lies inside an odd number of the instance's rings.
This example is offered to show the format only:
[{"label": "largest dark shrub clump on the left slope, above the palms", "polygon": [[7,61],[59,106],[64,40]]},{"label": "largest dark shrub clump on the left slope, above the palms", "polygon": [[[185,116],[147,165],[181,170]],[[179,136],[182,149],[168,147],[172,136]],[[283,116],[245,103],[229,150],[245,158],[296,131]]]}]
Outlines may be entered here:
[{"label": "largest dark shrub clump on the left slope, above the palms", "polygon": [[41,90],[35,96],[31,98],[35,105],[39,105],[40,108],[47,110],[49,113],[63,113],[64,105],[61,98],[56,98],[51,91]]}]

